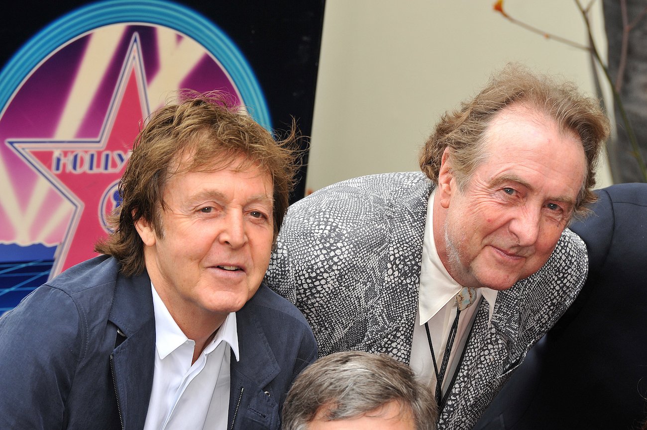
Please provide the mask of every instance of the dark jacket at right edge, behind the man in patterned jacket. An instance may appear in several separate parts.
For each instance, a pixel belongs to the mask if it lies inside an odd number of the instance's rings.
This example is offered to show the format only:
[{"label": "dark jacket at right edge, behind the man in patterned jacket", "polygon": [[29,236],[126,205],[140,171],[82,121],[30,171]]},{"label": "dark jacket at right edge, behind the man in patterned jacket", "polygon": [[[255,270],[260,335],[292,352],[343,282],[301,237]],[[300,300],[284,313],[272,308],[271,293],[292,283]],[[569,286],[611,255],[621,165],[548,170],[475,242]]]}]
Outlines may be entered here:
[{"label": "dark jacket at right edge, behind the man in patterned jacket", "polygon": [[647,418],[647,184],[598,191],[570,228],[589,275],[474,427],[633,430]]}]

